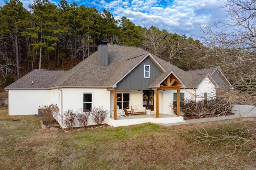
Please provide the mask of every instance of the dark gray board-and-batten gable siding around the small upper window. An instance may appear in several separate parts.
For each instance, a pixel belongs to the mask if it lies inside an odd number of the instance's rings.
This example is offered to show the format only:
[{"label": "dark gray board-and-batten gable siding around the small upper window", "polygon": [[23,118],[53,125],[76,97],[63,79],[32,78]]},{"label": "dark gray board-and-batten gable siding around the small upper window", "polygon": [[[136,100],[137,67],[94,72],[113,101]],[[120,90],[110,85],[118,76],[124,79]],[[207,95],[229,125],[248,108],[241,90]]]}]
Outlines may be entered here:
[{"label": "dark gray board-and-batten gable siding around the small upper window", "polygon": [[[150,78],[144,78],[144,64],[150,65]],[[117,85],[116,90],[150,90],[148,85],[161,74],[157,66],[147,57]]]}]

